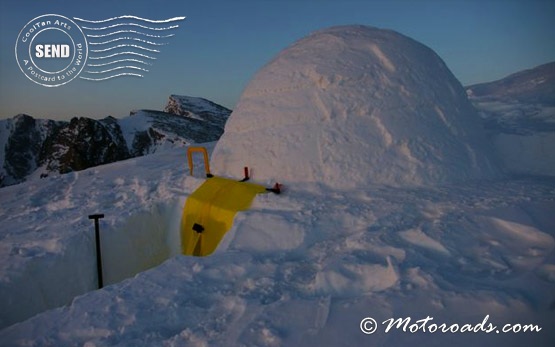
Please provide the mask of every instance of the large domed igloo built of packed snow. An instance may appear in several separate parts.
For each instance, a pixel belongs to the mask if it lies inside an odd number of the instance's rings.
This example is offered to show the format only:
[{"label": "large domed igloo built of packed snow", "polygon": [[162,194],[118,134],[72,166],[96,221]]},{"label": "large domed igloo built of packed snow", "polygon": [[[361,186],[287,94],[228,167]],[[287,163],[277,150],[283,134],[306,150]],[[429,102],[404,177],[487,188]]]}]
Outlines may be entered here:
[{"label": "large domed igloo built of packed snow", "polygon": [[259,182],[418,186],[497,172],[480,119],[430,48],[390,30],[341,26],[284,49],[256,73],[214,148],[216,174]]}]

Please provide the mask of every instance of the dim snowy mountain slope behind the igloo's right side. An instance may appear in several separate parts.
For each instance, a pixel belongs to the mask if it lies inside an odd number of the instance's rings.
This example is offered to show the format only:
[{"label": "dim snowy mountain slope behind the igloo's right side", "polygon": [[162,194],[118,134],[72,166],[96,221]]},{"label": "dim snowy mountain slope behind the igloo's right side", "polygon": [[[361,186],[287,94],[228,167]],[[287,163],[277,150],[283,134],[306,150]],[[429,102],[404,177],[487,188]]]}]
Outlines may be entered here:
[{"label": "dim snowy mountain slope behind the igloo's right side", "polygon": [[555,176],[555,62],[467,87],[504,164]]}]

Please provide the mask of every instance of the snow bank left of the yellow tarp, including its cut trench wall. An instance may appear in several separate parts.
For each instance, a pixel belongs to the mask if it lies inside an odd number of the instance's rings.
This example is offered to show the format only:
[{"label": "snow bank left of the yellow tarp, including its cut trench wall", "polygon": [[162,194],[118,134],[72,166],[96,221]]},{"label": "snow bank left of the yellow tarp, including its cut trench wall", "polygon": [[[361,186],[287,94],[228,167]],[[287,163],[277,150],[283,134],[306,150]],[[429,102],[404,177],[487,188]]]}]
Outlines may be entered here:
[{"label": "snow bank left of the yellow tarp, including its cut trench wall", "polygon": [[106,215],[105,283],[176,254],[179,243],[167,238],[177,237],[183,196],[195,184],[184,181],[185,152],[140,158],[2,188],[1,327],[96,288],[90,214]]}]

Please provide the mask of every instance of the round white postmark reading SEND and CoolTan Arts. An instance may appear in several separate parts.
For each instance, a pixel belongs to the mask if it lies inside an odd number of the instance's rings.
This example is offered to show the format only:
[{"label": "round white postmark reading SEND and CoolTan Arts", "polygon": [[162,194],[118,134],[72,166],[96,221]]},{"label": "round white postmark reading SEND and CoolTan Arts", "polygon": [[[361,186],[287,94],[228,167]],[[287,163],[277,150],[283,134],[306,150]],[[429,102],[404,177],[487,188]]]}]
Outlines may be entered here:
[{"label": "round white postmark reading SEND and CoolTan Arts", "polygon": [[59,87],[73,80],[85,67],[87,56],[87,39],[81,28],[58,14],[29,21],[15,43],[21,71],[45,87]]}]

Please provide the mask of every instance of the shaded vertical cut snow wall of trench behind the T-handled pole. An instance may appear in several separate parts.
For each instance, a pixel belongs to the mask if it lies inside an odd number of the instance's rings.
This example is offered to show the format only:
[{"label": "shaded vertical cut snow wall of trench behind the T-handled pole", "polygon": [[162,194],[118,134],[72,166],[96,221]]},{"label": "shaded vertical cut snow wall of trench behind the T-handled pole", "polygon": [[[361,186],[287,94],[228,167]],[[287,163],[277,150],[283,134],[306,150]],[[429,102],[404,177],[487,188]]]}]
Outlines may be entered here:
[{"label": "shaded vertical cut snow wall of trench behind the T-handled pole", "polygon": [[[100,244],[104,286],[121,282],[156,267],[180,249],[179,225],[182,199],[158,203],[129,216],[106,214],[100,219]],[[68,305],[98,289],[95,232],[91,220],[63,249],[44,256],[30,255],[23,271],[0,286],[4,307],[0,329],[43,311]],[[60,245],[58,245],[60,246]],[[16,290],[14,290],[16,288]]]}]

